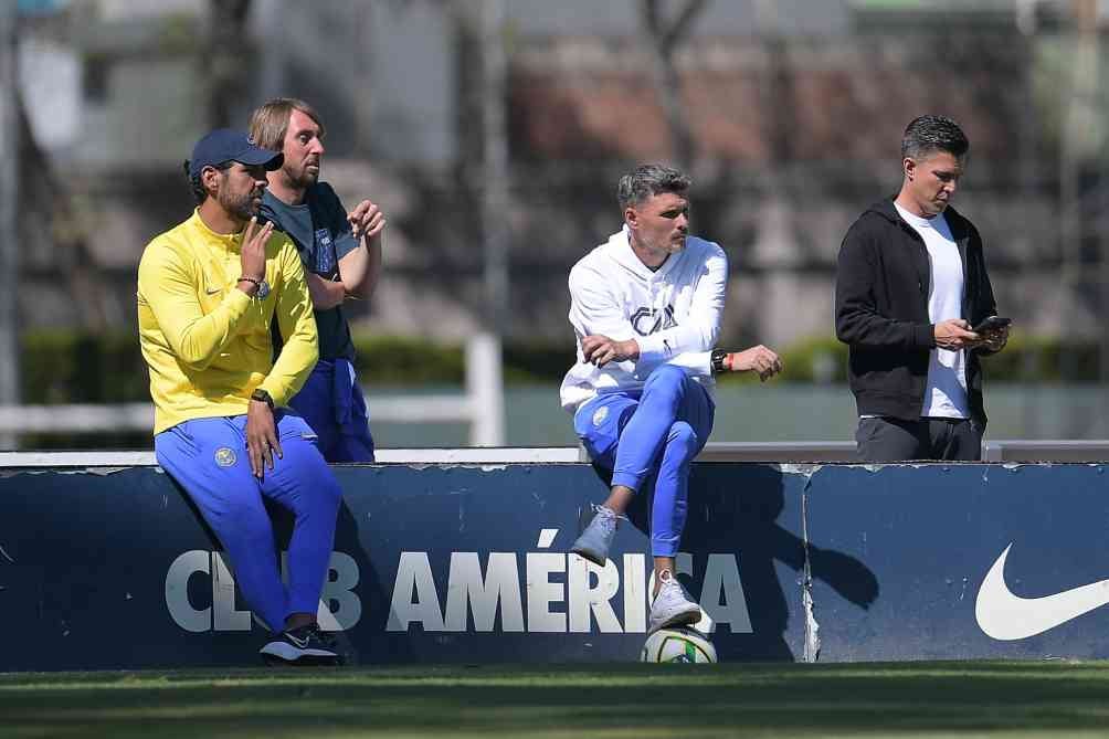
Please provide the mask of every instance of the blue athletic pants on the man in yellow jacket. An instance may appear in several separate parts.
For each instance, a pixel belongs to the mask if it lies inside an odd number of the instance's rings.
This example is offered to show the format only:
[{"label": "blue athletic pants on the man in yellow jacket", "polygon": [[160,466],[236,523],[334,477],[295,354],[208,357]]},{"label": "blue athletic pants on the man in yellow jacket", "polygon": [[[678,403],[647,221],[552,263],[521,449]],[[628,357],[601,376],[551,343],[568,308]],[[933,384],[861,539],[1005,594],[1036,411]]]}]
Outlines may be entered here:
[{"label": "blue athletic pants on the man in yellow jacket", "polygon": [[[342,490],[304,419],[278,411],[275,421],[283,456],[261,480],[251,472],[245,415],[177,424],[154,437],[154,452],[220,538],[251,609],[279,631],[289,614],[319,606]],[[287,588],[264,497],[295,516]]]}]

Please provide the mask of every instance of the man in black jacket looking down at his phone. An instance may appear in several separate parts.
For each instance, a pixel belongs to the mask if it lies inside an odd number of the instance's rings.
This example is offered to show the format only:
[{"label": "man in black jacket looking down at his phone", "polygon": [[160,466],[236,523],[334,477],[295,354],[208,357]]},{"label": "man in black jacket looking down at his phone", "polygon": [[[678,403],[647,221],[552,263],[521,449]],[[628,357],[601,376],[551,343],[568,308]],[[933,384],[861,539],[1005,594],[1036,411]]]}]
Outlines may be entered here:
[{"label": "man in black jacket looking down at his phone", "polygon": [[978,230],[949,205],[969,145],[947,118],[909,123],[901,191],[840,247],[835,327],[851,347],[864,462],[980,457],[979,356],[1000,351],[1008,327],[971,331],[997,306]]}]

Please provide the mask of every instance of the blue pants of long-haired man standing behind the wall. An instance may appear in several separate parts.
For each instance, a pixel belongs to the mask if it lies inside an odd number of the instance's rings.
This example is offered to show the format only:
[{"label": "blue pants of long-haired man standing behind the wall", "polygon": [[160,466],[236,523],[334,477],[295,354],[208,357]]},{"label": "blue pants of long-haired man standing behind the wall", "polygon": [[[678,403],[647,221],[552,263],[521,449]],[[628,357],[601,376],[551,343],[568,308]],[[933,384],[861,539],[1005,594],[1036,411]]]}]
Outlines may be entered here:
[{"label": "blue pants of long-haired man standing behind the wall", "polygon": [[319,437],[327,462],[373,462],[366,398],[348,360],[321,360],[288,402]]}]

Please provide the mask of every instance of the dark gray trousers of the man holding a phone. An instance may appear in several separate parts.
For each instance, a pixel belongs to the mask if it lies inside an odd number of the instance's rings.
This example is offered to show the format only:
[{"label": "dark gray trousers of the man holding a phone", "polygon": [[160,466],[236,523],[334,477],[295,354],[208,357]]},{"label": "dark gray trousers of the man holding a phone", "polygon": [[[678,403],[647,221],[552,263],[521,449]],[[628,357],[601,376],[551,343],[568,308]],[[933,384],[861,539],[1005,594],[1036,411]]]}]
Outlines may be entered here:
[{"label": "dark gray trousers of the man holding a phone", "polygon": [[981,459],[981,429],[969,418],[859,418],[855,442],[859,462]]}]

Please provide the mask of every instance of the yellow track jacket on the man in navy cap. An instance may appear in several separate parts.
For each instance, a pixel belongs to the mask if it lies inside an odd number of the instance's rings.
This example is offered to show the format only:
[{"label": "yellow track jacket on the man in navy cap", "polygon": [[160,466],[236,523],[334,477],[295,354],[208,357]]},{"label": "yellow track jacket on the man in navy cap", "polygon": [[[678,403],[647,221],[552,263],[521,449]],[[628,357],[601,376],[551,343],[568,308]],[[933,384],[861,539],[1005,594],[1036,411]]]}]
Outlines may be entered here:
[{"label": "yellow track jacket on the man in navy cap", "polygon": [[[316,321],[296,247],[285,234],[271,235],[271,292],[258,301],[235,286],[242,240],[214,233],[194,212],[143,251],[139,342],[150,366],[154,434],[192,418],[244,414],[256,387],[285,405],[316,364]],[[274,316],[284,340],[276,362]]]}]

